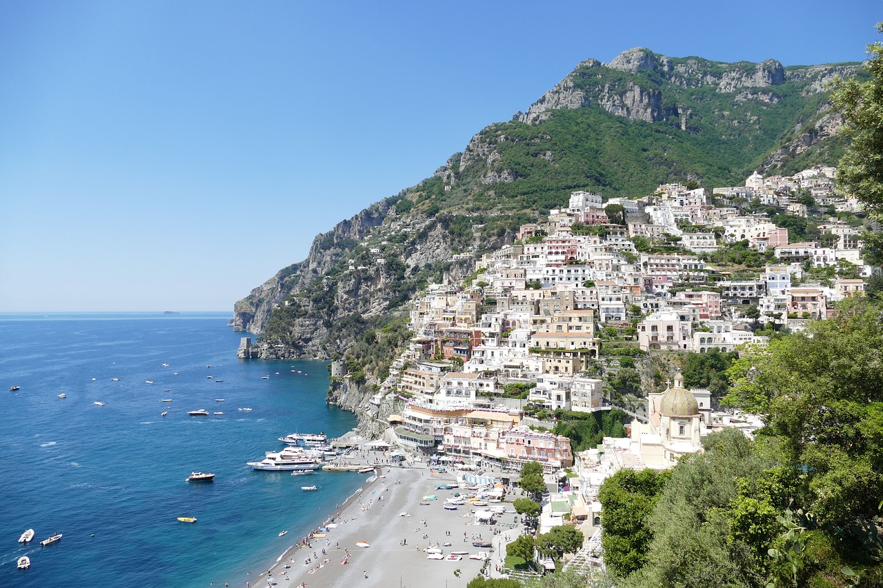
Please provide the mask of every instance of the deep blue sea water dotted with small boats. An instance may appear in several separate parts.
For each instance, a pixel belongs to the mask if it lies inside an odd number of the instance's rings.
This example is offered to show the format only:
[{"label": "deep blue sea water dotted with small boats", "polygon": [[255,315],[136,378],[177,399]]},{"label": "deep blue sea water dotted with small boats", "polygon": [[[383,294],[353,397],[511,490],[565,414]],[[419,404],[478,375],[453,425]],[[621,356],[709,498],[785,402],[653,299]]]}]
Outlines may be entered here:
[{"label": "deep blue sea water dotted with small boats", "polygon": [[[245,586],[364,481],[245,465],[356,420],[325,403],[324,362],[238,359],[229,316],[0,313],[0,586]],[[223,415],[186,414],[202,408]]]}]

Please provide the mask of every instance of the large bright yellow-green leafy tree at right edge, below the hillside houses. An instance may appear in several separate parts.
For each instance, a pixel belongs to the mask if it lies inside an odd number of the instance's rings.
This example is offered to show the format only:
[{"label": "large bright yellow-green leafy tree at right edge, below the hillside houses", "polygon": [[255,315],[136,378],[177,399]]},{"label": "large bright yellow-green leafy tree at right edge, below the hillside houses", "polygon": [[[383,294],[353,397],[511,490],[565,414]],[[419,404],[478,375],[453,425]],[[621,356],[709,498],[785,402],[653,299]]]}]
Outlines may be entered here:
[{"label": "large bright yellow-green leafy tree at right edge, below the hillside houses", "polygon": [[849,526],[883,496],[883,305],[851,298],[830,320],[752,349],[725,402],[766,414],[781,463],[805,472],[804,509]]}]

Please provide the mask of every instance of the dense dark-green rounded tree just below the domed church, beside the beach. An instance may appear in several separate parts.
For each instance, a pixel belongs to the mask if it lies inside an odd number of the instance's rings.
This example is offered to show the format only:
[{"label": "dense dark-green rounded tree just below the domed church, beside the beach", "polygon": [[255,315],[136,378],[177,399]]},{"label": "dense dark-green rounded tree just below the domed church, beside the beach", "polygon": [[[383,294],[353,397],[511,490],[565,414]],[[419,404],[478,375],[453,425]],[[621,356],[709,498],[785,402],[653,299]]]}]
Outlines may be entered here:
[{"label": "dense dark-green rounded tree just below the domed church, beside the beach", "polygon": [[666,479],[667,472],[620,470],[601,485],[601,545],[604,561],[617,574],[627,575],[644,566],[653,539],[647,518]]}]

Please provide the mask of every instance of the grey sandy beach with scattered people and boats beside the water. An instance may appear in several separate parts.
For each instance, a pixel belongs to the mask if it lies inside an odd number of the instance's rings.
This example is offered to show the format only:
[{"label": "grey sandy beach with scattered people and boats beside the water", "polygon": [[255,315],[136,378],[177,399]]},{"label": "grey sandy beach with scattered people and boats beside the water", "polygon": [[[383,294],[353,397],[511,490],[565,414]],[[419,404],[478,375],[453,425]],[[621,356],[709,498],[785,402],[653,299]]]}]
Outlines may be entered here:
[{"label": "grey sandy beach with scattered people and boats beside the water", "polygon": [[[484,562],[470,560],[468,554],[456,562],[426,559],[425,550],[431,546],[441,546],[445,557],[451,551],[490,551],[472,547],[472,541],[479,540],[479,535],[480,540],[490,541],[494,527],[474,524],[468,506],[443,508],[445,499],[457,490],[436,490],[435,486],[456,480],[450,474],[431,475],[426,469],[385,466],[379,470],[380,477],[343,505],[332,524],[336,526],[320,533],[324,537],[313,537],[310,547],[291,548],[269,573],[255,574],[237,585],[455,588],[476,577]],[[438,500],[421,505],[422,497],[428,494],[437,495]],[[502,520],[511,522],[512,517],[502,515]],[[301,538],[296,539],[299,544]],[[357,547],[356,543],[363,541],[370,547]]]}]

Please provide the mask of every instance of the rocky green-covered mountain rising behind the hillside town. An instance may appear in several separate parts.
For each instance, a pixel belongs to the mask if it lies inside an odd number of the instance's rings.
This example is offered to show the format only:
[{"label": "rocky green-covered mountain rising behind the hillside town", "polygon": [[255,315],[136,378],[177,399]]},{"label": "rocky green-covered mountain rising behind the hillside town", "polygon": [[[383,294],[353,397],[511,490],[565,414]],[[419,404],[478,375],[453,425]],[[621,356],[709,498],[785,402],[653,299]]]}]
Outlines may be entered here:
[{"label": "rocky green-covered mountain rising behind the hillside town", "polygon": [[[317,236],[234,307],[260,358],[329,358],[361,345],[368,375],[404,330],[390,321],[423,285],[458,280],[570,192],[639,197],[660,184],[741,185],[753,170],[834,164],[842,124],[826,84],[860,64],[726,64],[629,49],[589,59],[421,181]],[[395,334],[395,336],[393,335]],[[377,367],[381,366],[381,367]],[[352,371],[352,370],[351,370]]]}]

